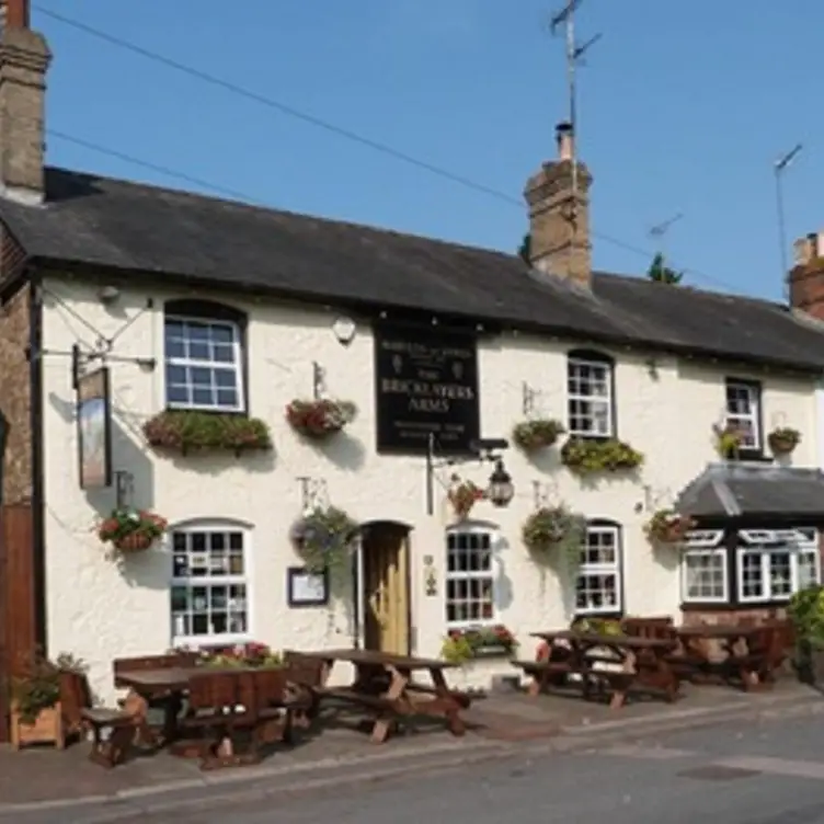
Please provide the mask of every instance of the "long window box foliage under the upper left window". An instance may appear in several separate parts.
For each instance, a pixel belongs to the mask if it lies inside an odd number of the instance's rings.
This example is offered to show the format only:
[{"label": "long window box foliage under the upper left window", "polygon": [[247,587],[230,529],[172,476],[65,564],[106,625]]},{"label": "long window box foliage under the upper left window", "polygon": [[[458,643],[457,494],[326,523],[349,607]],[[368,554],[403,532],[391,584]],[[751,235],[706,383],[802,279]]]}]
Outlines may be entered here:
[{"label": "long window box foliage under the upper left window", "polygon": [[245,415],[167,410],[144,424],[150,446],[190,451],[271,449],[268,426]]}]

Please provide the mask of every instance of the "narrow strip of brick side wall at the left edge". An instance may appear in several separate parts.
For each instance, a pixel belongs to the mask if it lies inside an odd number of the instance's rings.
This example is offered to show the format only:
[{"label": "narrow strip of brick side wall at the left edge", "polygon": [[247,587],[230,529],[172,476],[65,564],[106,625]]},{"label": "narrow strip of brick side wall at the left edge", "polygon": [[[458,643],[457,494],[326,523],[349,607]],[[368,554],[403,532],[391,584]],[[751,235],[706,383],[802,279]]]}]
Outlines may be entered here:
[{"label": "narrow strip of brick side wall at the left edge", "polygon": [[32,496],[31,387],[26,358],[30,287],[26,284],[0,308],[0,412],[7,443],[2,503],[20,504]]}]

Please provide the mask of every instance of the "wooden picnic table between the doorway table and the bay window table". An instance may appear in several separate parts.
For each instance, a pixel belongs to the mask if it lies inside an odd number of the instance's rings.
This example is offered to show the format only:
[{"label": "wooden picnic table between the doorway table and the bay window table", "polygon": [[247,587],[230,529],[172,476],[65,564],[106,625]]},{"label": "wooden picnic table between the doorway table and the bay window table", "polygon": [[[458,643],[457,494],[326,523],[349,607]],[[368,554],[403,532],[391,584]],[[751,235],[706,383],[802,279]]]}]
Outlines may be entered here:
[{"label": "wooden picnic table between the doorway table and the bay window table", "polygon": [[[611,690],[610,707],[623,706],[630,691],[663,694],[673,701],[679,680],[667,663],[667,655],[676,646],[675,639],[639,638],[634,636],[602,634],[554,630],[533,632],[550,646],[546,661],[513,661],[533,676],[530,694],[545,691],[558,676],[581,676],[584,698],[593,690]],[[561,643],[559,643],[561,642]],[[561,651],[563,650],[563,651]],[[597,664],[606,665],[596,667]]]}]

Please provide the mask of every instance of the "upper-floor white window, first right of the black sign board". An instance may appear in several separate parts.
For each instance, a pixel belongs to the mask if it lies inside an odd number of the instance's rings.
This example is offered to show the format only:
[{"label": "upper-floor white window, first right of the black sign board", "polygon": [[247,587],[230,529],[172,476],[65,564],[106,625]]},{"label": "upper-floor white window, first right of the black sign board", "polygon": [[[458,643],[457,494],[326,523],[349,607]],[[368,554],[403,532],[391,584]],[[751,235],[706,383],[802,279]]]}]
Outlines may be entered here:
[{"label": "upper-floor white window, first right of the black sign board", "polygon": [[566,359],[570,435],[613,437],[613,360],[598,353],[571,352]]}]

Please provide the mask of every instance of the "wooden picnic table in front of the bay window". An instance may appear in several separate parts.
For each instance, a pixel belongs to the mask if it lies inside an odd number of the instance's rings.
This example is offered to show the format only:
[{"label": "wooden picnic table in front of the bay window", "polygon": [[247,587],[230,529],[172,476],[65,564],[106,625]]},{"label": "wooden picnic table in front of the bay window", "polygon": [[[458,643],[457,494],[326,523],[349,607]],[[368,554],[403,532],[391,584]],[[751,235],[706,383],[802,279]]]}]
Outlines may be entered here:
[{"label": "wooden picnic table in front of the bay window", "polygon": [[[710,678],[713,672],[729,683],[739,678],[745,690],[769,686],[775,670],[785,656],[785,626],[780,621],[751,625],[695,625],[676,627],[676,638],[683,645],[683,657],[696,675]],[[708,644],[717,641],[725,657],[713,661]]]}]

